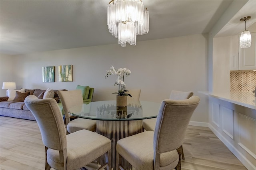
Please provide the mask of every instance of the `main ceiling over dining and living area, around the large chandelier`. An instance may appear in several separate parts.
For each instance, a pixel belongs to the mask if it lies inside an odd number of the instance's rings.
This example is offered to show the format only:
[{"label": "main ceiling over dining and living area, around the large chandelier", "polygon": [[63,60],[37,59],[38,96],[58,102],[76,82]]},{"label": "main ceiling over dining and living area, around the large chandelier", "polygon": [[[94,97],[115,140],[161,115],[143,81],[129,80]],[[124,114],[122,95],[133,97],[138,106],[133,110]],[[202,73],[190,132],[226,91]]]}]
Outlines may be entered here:
[{"label": "main ceiling over dining and living area, around the large chandelier", "polygon": [[[0,0],[0,52],[18,55],[118,43],[108,32],[110,0]],[[138,41],[208,33],[232,0],[142,0],[149,33]]]}]

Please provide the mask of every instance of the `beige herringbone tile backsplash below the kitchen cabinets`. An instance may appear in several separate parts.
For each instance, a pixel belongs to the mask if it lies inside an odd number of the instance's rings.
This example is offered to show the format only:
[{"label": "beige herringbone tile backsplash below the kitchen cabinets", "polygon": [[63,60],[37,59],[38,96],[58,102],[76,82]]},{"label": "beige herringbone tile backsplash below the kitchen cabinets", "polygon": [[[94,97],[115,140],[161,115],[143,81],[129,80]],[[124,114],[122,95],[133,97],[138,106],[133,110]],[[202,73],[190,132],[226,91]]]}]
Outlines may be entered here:
[{"label": "beige herringbone tile backsplash below the kitchen cabinets", "polygon": [[256,71],[230,71],[230,91],[253,91]]}]

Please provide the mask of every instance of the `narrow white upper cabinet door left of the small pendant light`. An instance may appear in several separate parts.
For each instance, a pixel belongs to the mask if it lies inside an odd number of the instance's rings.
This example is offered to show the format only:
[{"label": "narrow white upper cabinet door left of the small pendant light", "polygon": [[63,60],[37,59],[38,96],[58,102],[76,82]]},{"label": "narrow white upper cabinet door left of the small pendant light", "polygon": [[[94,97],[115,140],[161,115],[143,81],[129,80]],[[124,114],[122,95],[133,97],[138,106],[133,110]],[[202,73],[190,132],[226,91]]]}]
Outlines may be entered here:
[{"label": "narrow white upper cabinet door left of the small pendant light", "polygon": [[230,36],[230,70],[239,70],[239,36]]}]

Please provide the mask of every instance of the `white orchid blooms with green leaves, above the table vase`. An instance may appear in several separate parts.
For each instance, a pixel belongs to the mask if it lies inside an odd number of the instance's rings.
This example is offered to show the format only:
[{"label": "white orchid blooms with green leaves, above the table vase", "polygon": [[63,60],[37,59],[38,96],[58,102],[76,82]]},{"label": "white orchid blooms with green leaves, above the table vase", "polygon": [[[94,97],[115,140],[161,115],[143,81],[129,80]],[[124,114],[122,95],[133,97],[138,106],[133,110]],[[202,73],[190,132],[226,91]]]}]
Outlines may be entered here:
[{"label": "white orchid blooms with green leaves, above the table vase", "polygon": [[115,69],[113,65],[112,67],[110,67],[110,70],[107,70],[107,75],[105,76],[105,78],[107,78],[108,75],[118,75],[116,83],[114,84],[114,86],[118,86],[118,91],[112,94],[118,94],[118,96],[132,97],[132,95],[125,93],[128,90],[125,90],[126,84],[124,83],[124,76],[128,77],[130,76],[130,73],[131,71],[129,69],[126,69],[126,68]]}]

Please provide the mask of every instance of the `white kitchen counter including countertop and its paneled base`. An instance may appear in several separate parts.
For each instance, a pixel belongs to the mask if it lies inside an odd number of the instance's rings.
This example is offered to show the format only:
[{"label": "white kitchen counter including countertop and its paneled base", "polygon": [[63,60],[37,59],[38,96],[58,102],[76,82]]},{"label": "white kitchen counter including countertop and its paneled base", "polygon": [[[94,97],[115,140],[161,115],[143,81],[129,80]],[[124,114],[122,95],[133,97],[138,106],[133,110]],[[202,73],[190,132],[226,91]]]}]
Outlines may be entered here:
[{"label": "white kitchen counter including countertop and its paneled base", "polygon": [[244,164],[256,170],[256,98],[253,92],[234,91],[208,95],[209,128]]}]

